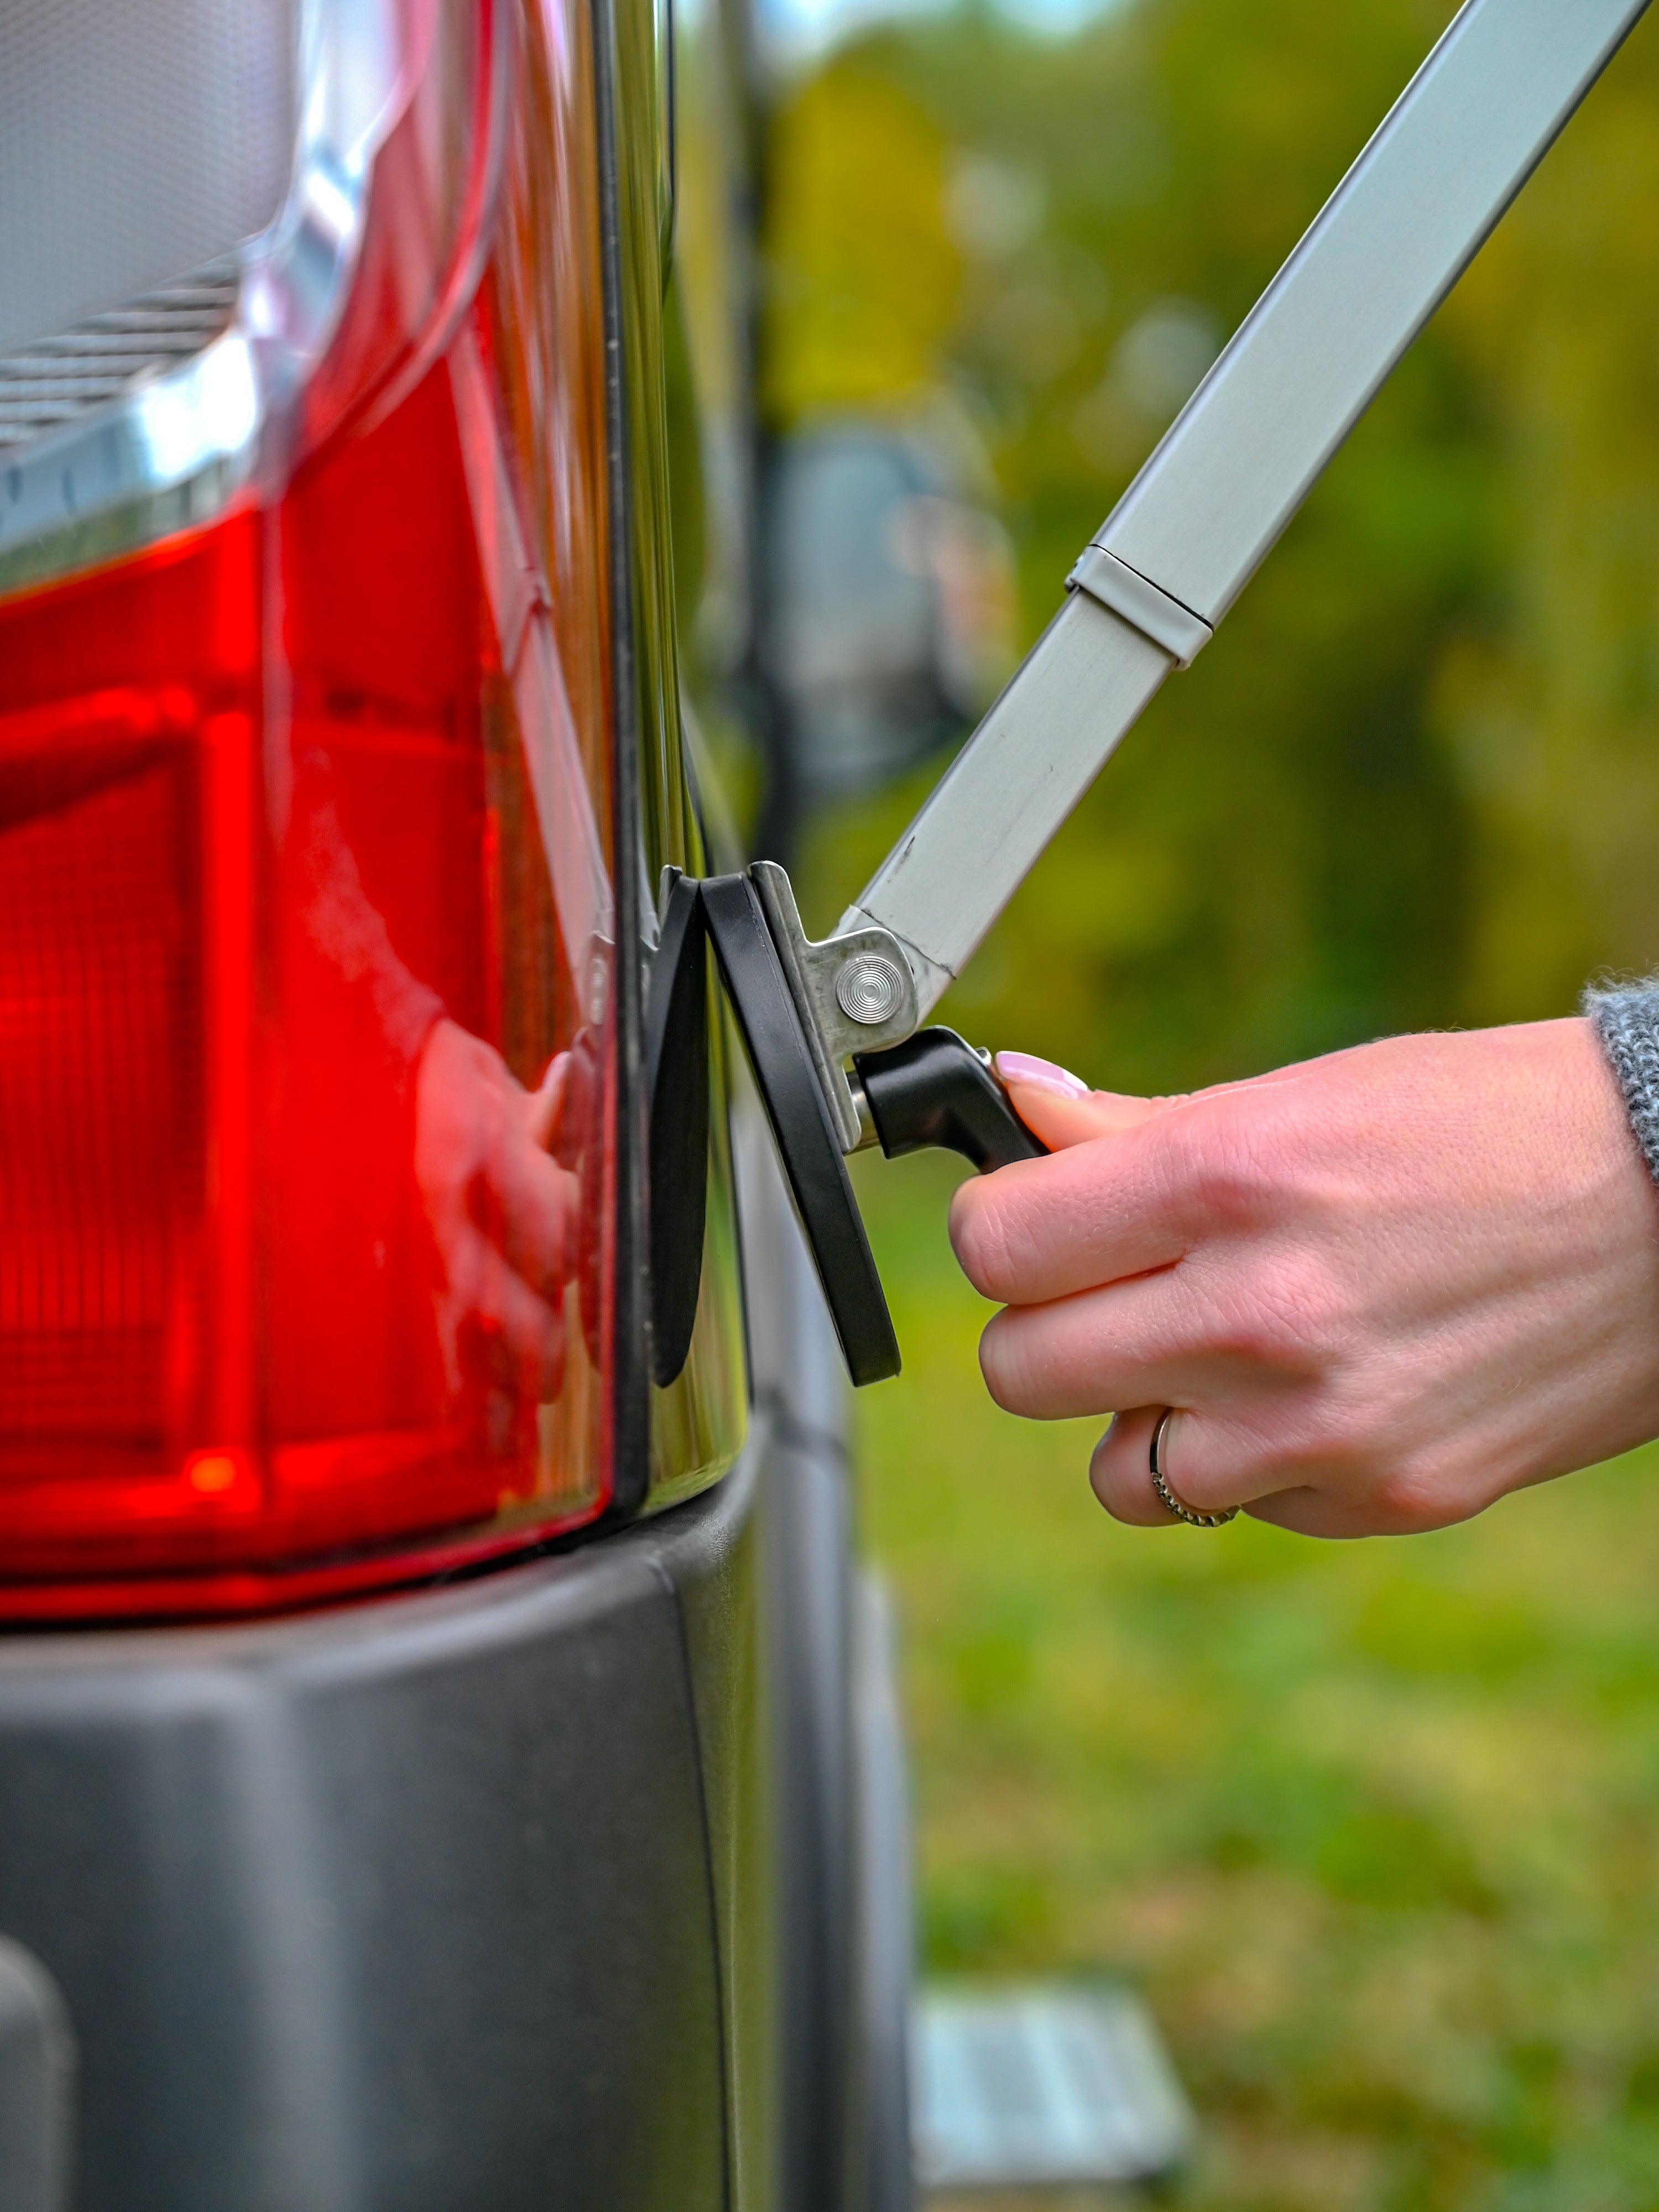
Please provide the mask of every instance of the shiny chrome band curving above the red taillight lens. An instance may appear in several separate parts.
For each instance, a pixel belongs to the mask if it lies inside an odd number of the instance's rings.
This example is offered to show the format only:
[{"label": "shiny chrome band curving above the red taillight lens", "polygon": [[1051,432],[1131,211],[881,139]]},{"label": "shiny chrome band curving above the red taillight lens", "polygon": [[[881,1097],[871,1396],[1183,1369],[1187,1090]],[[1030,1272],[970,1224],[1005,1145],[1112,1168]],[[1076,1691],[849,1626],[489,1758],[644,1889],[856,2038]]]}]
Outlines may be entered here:
[{"label": "shiny chrome band curving above the red taillight lens", "polygon": [[294,181],[270,230],[228,268],[0,361],[0,593],[210,522],[257,478],[349,292],[374,155],[409,91],[409,18],[429,51],[429,7],[305,0]]}]

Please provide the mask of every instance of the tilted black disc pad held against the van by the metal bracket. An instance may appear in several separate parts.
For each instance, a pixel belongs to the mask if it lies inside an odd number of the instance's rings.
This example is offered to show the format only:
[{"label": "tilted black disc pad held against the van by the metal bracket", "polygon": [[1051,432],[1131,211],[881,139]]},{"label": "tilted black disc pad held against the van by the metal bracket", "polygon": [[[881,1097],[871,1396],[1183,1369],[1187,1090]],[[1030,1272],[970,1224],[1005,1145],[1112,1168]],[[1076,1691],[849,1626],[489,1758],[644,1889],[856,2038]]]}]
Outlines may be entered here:
[{"label": "tilted black disc pad held against the van by the metal bracket", "polygon": [[759,894],[748,876],[710,876],[703,914],[847,1371],[883,1383],[900,1367],[894,1321]]}]

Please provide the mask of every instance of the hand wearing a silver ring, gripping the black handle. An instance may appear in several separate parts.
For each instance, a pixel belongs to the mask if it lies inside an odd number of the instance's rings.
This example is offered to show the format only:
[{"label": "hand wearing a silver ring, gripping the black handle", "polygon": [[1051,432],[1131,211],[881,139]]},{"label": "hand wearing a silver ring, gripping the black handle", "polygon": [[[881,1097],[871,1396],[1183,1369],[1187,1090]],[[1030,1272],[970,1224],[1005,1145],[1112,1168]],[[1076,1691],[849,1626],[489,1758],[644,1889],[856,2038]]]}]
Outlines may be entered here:
[{"label": "hand wearing a silver ring, gripping the black handle", "polygon": [[1391,1037],[1186,1099],[1002,1055],[1055,1157],[964,1183],[998,1405],[1115,1411],[1091,1482],[1438,1528],[1659,1433],[1659,1192],[1588,1022]]}]

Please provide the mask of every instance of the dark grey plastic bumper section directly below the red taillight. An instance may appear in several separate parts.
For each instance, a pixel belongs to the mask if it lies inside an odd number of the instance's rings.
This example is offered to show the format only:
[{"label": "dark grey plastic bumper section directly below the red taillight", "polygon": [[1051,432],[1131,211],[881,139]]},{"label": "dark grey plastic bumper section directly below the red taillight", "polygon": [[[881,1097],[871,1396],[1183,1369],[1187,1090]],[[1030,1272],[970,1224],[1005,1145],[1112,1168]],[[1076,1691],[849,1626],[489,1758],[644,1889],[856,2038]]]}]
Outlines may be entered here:
[{"label": "dark grey plastic bumper section directly below the red taillight", "polygon": [[69,2004],[86,2212],[723,2203],[675,1582],[750,1484],[442,1595],[0,1650],[0,1927]]}]

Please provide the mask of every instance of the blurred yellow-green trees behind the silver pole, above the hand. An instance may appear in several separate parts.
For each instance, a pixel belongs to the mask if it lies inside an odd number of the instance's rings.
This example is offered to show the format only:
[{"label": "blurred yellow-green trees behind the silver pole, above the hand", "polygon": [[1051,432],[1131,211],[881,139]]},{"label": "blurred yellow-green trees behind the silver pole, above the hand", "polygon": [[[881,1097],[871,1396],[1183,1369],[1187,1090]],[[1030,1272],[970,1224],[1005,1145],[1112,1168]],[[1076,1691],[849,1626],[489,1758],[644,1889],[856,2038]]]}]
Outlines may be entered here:
[{"label": "blurred yellow-green trees behind the silver pole, above the hand", "polygon": [[[982,467],[1024,639],[1444,24],[958,11],[785,104],[768,403]],[[1121,1088],[1571,1009],[1659,956],[1659,33],[1639,29],[949,1006]],[[832,918],[927,785],[821,823]]]}]

